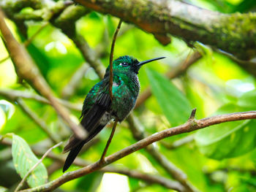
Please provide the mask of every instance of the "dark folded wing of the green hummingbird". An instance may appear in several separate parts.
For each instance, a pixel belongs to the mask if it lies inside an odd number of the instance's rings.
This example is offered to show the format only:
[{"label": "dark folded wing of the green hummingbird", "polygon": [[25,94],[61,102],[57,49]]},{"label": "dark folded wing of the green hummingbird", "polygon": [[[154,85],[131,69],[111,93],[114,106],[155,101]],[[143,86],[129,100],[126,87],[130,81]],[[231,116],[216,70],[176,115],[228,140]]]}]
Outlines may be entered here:
[{"label": "dark folded wing of the green hummingbird", "polygon": [[88,131],[88,137],[82,141],[72,135],[72,137],[69,139],[69,143],[64,147],[64,153],[78,146],[81,142],[83,142],[83,144],[89,142],[89,140],[95,137],[105,126],[100,125],[99,120],[109,109],[111,104],[108,88],[109,85],[105,85],[105,88],[103,90],[101,89],[101,92],[98,93],[96,99],[94,100],[94,104],[89,109],[84,110],[82,113],[82,120],[80,121],[80,124],[86,128],[86,131]]}]

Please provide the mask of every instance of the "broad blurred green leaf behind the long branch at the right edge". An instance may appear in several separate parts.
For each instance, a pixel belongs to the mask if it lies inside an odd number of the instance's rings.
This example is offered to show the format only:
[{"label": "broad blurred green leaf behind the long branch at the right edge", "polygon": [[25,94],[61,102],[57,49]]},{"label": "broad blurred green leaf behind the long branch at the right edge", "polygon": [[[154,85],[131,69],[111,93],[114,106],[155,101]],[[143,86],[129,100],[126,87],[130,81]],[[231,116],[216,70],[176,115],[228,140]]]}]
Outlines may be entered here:
[{"label": "broad blurred green leaf behind the long branch at the right edge", "polygon": [[[234,104],[221,107],[215,115],[241,111]],[[195,141],[204,155],[215,158],[233,158],[256,146],[256,121],[243,120],[221,123],[197,131]]]}]

